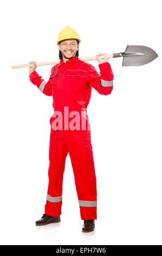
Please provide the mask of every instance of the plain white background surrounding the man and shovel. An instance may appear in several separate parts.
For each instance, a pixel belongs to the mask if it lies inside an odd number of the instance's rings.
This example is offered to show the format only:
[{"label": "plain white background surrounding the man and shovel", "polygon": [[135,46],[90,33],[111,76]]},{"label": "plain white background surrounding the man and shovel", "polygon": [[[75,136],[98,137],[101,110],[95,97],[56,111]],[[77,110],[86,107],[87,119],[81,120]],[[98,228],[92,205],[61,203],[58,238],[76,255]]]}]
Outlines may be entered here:
[{"label": "plain white background surrounding the man and shovel", "polygon": [[[1,2],[1,244],[161,245],[160,1]],[[138,67],[110,59],[114,89],[88,106],[97,176],[96,229],[84,234],[70,157],[60,223],[36,227],[48,186],[52,97],[11,65],[58,59],[57,36],[78,32],[79,57],[145,45],[159,55]],[[97,61],[90,62],[99,72]],[[36,71],[47,80],[52,66]]]}]

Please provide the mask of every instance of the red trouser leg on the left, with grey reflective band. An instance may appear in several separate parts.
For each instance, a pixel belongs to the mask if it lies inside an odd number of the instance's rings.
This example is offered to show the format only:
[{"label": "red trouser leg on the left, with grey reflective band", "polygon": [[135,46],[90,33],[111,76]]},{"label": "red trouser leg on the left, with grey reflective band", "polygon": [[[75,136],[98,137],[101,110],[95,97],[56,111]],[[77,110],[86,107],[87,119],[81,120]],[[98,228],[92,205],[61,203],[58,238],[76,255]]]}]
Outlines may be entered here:
[{"label": "red trouser leg on the left, with grey reflective band", "polygon": [[[57,134],[57,143],[55,136]],[[57,131],[52,130],[49,141],[48,191],[45,214],[61,215],[63,174],[67,156],[66,139],[62,139]]]}]

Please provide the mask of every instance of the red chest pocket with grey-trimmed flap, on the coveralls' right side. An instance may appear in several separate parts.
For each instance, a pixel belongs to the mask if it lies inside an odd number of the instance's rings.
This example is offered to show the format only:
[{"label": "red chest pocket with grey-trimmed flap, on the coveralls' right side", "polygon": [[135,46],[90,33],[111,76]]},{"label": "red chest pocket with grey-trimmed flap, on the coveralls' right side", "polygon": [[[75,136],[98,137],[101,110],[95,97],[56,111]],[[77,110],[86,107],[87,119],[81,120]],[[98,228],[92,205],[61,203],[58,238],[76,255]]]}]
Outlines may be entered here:
[{"label": "red chest pocket with grey-trimmed flap, on the coveralls' right side", "polygon": [[67,69],[67,89],[70,91],[78,91],[84,87],[86,82],[86,76],[88,71],[86,70],[70,70]]}]

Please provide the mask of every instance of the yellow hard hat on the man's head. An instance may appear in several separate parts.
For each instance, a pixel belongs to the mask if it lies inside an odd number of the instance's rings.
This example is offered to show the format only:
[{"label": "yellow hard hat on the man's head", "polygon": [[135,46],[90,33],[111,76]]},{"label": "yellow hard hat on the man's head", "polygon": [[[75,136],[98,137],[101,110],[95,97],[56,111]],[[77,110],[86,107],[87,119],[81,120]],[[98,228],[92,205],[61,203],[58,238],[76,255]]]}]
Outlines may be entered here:
[{"label": "yellow hard hat on the man's head", "polygon": [[59,44],[60,41],[66,40],[66,39],[78,39],[79,43],[80,43],[80,39],[79,39],[79,35],[78,33],[71,27],[66,26],[65,28],[63,28],[59,35],[58,35],[58,41],[57,41],[57,45]]}]

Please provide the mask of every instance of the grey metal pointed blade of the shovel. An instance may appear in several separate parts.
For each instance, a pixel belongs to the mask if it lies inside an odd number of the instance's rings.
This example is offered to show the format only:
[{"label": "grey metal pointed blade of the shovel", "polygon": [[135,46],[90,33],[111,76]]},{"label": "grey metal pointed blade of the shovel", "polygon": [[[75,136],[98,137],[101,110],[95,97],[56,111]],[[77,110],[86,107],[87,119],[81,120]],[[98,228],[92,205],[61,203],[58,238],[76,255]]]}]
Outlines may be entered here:
[{"label": "grey metal pointed blade of the shovel", "polygon": [[141,66],[152,62],[158,54],[147,46],[128,45],[122,56],[122,66]]}]

